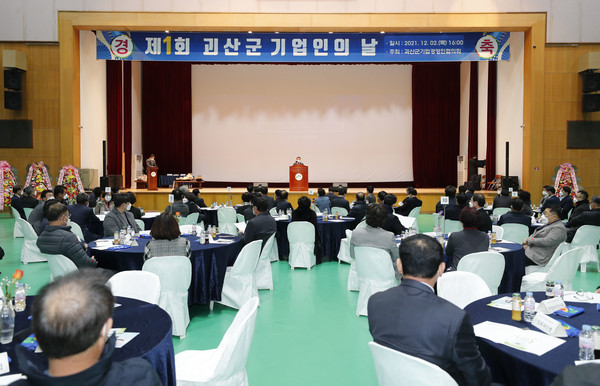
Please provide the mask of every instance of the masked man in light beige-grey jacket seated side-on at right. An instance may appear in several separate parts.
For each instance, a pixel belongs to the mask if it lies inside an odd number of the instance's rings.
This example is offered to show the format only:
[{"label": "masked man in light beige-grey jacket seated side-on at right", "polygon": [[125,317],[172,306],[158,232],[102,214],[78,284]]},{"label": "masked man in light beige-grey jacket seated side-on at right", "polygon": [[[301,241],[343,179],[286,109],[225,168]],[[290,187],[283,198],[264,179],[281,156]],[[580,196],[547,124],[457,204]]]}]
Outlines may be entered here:
[{"label": "masked man in light beige-grey jacket seated side-on at right", "polygon": [[567,230],[560,221],[560,212],[559,206],[546,208],[541,220],[546,225],[539,227],[523,240],[525,265],[537,264],[544,267],[552,258],[556,247],[567,239]]}]

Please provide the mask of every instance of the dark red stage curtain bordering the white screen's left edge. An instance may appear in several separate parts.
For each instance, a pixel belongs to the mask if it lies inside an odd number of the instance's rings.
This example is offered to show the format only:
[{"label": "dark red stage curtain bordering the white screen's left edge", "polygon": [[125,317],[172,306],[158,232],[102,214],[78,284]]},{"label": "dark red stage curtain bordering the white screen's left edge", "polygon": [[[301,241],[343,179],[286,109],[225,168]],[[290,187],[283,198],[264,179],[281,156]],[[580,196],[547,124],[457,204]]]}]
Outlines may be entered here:
[{"label": "dark red stage curtain bordering the white screen's left edge", "polygon": [[191,85],[190,63],[142,62],[142,149],[144,159],[156,155],[159,174],[192,171]]}]

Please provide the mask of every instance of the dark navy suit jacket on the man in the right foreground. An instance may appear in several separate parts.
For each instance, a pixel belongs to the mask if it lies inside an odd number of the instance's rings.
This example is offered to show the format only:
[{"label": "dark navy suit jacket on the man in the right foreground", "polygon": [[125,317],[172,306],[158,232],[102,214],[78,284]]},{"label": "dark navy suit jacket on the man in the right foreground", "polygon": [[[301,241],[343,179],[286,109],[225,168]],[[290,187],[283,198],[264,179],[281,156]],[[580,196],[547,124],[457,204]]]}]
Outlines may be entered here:
[{"label": "dark navy suit jacket on the man in the right foreground", "polygon": [[469,314],[427,285],[403,279],[398,287],[373,294],[368,313],[375,342],[441,367],[459,385],[490,384]]}]

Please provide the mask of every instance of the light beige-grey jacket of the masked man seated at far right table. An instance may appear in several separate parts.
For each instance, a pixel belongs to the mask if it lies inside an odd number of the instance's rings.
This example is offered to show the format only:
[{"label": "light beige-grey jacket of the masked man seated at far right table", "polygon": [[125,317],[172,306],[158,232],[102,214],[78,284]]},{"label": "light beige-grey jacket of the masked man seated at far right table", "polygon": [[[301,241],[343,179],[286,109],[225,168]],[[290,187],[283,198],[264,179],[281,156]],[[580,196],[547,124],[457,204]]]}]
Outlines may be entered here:
[{"label": "light beige-grey jacket of the masked man seated at far right table", "polygon": [[529,248],[525,249],[525,256],[537,265],[545,266],[556,247],[566,239],[567,230],[561,221],[541,226],[528,237]]}]

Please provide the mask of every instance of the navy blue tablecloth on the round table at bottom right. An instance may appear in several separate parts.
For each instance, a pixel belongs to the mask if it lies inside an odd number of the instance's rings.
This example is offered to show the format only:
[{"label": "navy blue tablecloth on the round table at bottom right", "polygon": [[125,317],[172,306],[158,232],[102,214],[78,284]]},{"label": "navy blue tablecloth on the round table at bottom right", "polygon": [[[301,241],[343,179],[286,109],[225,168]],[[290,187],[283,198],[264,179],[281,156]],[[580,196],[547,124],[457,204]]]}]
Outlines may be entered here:
[{"label": "navy blue tablecloth on the round table at bottom right", "polygon": [[[539,331],[530,323],[515,322],[511,319],[511,311],[489,307],[491,300],[502,296],[512,296],[511,293],[491,296],[469,304],[465,311],[471,316],[473,325],[484,321],[509,324],[520,328],[530,328]],[[521,298],[525,293],[521,293]],[[543,292],[534,293],[535,300],[540,302],[545,299]],[[583,314],[573,318],[562,318],[551,315],[555,320],[563,320],[575,328],[581,329],[583,324],[598,324],[600,313],[596,311],[595,304],[568,303],[585,309]],[[494,382],[505,385],[549,385],[554,378],[565,368],[574,365],[573,361],[579,359],[578,338],[561,338],[564,344],[556,347],[542,356],[519,351],[512,347],[497,344],[483,338],[477,338],[479,351],[492,371]]]}]

